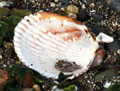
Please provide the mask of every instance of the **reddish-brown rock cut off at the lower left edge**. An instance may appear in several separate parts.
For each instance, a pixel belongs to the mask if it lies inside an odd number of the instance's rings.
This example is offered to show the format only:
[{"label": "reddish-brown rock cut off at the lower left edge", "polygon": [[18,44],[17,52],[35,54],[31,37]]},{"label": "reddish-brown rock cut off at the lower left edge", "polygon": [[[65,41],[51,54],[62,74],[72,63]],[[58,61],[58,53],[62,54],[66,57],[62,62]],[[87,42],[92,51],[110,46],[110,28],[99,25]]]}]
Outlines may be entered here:
[{"label": "reddish-brown rock cut off at the lower left edge", "polygon": [[8,72],[5,70],[0,70],[0,89],[1,90],[7,84],[8,79],[9,79]]}]

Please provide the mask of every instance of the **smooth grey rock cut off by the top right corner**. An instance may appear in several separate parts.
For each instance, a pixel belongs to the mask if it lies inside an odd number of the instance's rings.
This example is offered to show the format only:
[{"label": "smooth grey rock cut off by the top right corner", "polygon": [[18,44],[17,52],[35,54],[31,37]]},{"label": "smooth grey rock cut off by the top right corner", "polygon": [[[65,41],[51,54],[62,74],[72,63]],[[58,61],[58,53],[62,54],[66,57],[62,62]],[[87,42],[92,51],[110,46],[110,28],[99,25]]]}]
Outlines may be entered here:
[{"label": "smooth grey rock cut off by the top right corner", "polygon": [[107,0],[107,4],[111,9],[120,12],[120,0]]}]

